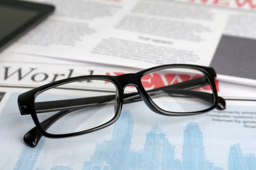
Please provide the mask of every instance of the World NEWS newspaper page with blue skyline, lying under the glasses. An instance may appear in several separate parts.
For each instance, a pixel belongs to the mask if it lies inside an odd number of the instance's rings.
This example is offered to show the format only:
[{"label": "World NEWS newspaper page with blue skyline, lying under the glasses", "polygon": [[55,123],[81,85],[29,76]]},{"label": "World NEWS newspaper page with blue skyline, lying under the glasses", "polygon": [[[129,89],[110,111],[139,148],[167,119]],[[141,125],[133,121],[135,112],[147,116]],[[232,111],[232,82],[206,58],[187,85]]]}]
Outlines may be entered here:
[{"label": "World NEWS newspaper page with blue skyline, lying under the glasses", "polygon": [[[119,75],[131,70],[65,64],[46,68],[39,63],[0,65],[0,169],[256,168],[255,101],[226,101],[226,110],[196,116],[162,116],[138,101],[123,105],[112,126],[66,139],[42,137],[35,148],[30,148],[22,139],[35,124],[30,115],[20,115],[20,93],[62,78]],[[221,95],[227,95],[228,88],[221,82],[217,87]],[[230,96],[251,93],[256,97],[256,90],[251,88],[243,92],[234,88]],[[75,93],[67,89],[62,95]]]}]

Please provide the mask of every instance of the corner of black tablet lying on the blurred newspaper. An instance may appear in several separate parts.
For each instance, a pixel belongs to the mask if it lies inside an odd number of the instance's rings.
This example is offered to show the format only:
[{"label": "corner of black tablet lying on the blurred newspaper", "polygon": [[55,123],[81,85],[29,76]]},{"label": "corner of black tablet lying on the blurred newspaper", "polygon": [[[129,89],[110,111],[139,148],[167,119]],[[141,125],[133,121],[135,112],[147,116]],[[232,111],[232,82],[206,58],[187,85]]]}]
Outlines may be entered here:
[{"label": "corner of black tablet lying on the blurred newspaper", "polygon": [[0,51],[53,11],[53,5],[0,0]]}]

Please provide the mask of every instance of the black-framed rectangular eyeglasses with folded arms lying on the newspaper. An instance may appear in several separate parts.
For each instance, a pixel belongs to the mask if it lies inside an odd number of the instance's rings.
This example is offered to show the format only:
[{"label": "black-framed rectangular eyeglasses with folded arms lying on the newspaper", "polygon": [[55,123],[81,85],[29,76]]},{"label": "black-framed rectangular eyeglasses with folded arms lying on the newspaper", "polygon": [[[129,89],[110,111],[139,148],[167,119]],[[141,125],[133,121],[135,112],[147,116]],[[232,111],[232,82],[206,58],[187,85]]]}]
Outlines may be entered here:
[{"label": "black-framed rectangular eyeglasses with folded arms lying on the newspaper", "polygon": [[[34,147],[42,135],[72,137],[102,129],[116,122],[123,103],[141,99],[152,111],[165,116],[223,110],[225,101],[217,95],[215,78],[211,67],[175,64],[139,73],[51,82],[18,96],[20,113],[31,114],[35,122],[24,141]],[[129,92],[124,92],[125,88]]]}]

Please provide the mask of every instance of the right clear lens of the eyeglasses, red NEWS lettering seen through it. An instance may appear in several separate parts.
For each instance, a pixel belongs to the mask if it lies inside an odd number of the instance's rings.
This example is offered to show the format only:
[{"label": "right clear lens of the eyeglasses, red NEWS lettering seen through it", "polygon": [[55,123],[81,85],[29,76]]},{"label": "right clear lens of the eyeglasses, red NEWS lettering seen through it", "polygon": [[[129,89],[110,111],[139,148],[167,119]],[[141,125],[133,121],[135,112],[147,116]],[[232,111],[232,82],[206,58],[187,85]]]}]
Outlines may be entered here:
[{"label": "right clear lens of the eyeglasses, red NEWS lettering seen through it", "polygon": [[167,112],[198,112],[213,105],[213,88],[196,69],[165,68],[142,76],[141,82],[156,107]]}]

